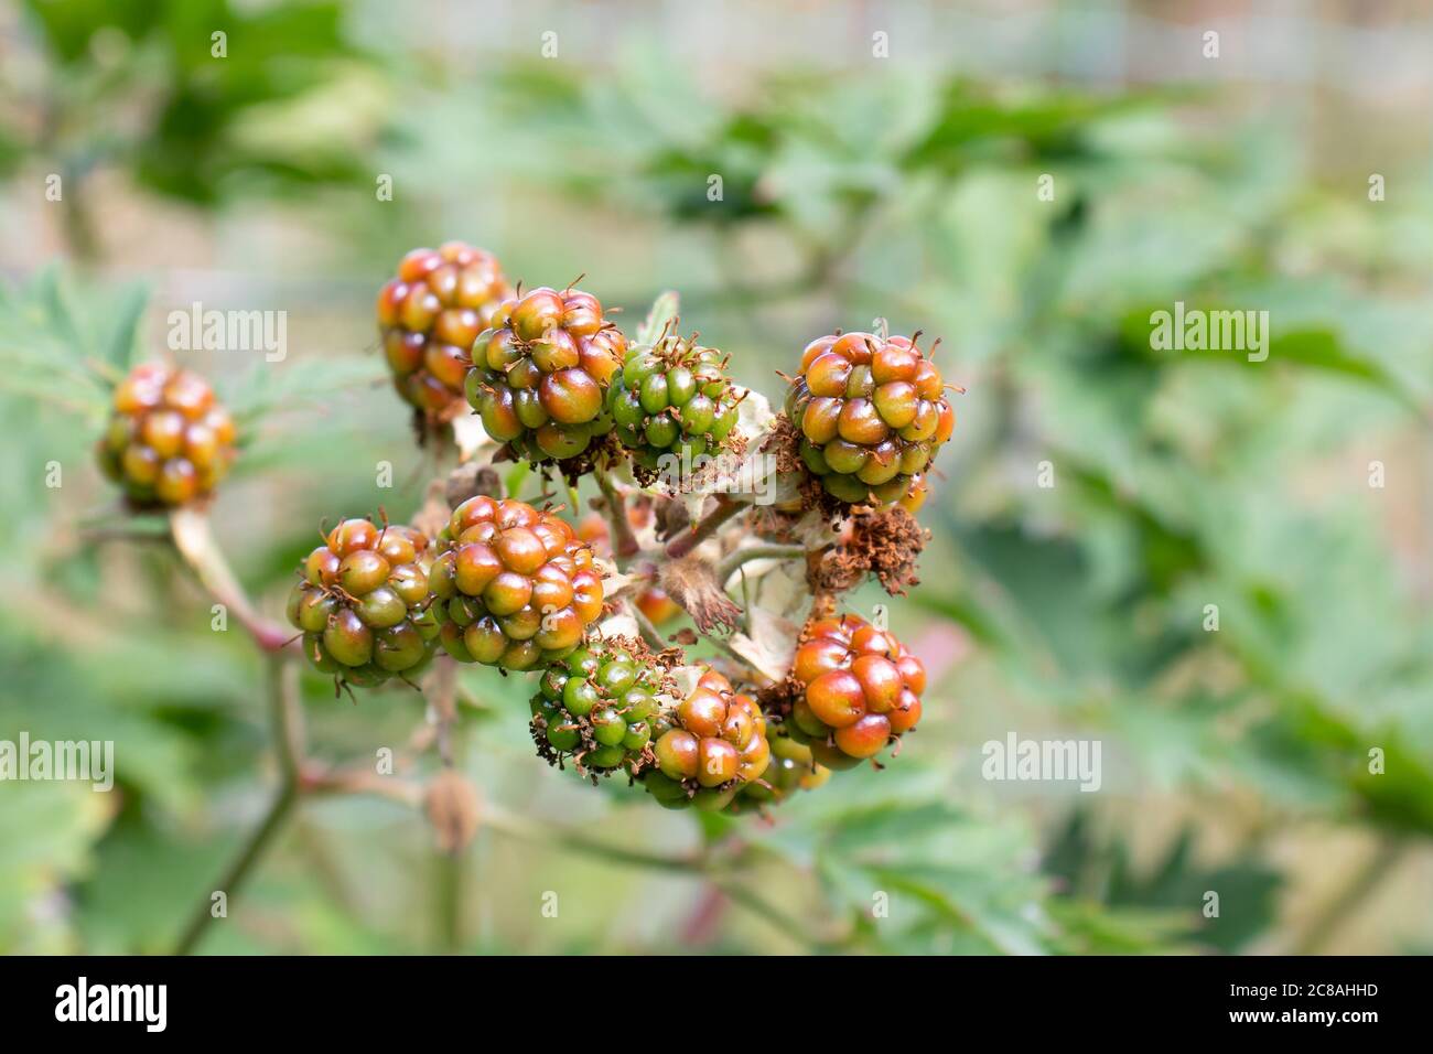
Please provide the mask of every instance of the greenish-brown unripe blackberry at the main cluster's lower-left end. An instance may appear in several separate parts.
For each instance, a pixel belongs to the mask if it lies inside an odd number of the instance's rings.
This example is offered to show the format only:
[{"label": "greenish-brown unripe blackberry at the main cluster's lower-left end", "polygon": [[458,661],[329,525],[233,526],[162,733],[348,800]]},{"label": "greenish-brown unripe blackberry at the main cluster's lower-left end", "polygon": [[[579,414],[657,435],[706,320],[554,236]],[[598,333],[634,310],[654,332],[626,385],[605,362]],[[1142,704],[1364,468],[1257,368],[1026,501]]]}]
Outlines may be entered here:
[{"label": "greenish-brown unripe blackberry at the main cluster's lower-left end", "polygon": [[288,598],[310,663],[360,685],[418,673],[438,634],[427,604],[431,562],[421,531],[340,522],[304,559]]}]

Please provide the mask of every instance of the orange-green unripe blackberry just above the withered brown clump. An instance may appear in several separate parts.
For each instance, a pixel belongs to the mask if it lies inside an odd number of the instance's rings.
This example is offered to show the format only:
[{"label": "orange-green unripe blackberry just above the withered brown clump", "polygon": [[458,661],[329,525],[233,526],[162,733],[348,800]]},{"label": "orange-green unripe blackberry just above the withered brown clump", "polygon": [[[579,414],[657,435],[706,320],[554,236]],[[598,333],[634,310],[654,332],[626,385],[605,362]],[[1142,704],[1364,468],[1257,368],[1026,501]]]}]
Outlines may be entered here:
[{"label": "orange-green unripe blackberry just above the withered brown clump", "polygon": [[940,370],[916,343],[871,333],[807,344],[785,409],[807,467],[853,505],[906,498],[956,426]]}]

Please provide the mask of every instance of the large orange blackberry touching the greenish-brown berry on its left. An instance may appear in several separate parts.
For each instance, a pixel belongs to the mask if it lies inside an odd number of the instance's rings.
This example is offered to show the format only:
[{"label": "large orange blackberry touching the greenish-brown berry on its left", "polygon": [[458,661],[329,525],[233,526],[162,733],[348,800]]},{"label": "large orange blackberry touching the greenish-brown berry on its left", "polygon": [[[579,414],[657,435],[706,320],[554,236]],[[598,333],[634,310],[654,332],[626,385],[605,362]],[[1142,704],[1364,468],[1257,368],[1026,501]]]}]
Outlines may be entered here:
[{"label": "large orange blackberry touching the greenish-brown berry on its left", "polygon": [[555,513],[477,495],[453,509],[440,542],[431,611],[443,647],[461,663],[556,663],[602,617],[592,549]]}]

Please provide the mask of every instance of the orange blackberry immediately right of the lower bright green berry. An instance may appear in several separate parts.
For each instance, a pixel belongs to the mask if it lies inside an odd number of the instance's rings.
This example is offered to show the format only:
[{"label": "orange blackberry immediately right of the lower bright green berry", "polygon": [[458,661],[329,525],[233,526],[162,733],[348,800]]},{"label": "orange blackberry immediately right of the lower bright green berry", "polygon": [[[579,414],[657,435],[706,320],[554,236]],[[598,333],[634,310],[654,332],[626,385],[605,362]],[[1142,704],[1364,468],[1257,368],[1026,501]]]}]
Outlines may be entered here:
[{"label": "orange blackberry immediately right of the lower bright green berry", "polygon": [[653,721],[655,767],[643,784],[659,804],[719,812],[771,760],[767,718],[731,681],[708,670],[681,704]]}]

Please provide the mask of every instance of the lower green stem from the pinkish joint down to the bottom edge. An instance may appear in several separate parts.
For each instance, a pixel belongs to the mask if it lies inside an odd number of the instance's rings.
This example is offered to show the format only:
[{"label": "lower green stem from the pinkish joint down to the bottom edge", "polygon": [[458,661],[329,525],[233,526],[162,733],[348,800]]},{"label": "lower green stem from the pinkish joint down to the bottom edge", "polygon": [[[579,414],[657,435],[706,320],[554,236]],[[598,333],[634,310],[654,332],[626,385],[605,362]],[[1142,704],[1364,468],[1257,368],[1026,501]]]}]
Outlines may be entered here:
[{"label": "lower green stem from the pinkish joint down to the bottom edge", "polygon": [[[226,908],[228,902],[238,898],[245,879],[274,843],[278,832],[284,829],[284,823],[292,815],[299,797],[299,759],[304,753],[304,731],[297,698],[298,671],[279,654],[271,654],[268,663],[269,724],[278,754],[279,789],[259,826],[239,846],[238,855],[224,869],[214,888],[214,892],[222,891],[225,893]],[[214,921],[211,896],[205,896],[189,916],[189,924],[175,945],[175,955],[189,955],[203,938]]]}]

